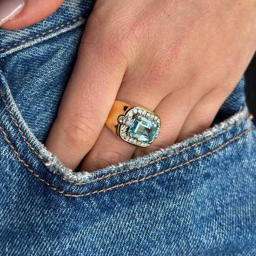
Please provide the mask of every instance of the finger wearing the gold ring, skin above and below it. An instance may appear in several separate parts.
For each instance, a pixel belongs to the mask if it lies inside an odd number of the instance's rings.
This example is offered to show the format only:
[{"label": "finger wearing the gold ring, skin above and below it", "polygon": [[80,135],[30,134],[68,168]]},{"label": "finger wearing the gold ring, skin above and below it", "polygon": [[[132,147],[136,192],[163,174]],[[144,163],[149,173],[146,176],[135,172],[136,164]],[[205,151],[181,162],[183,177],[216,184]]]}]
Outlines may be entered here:
[{"label": "finger wearing the gold ring, skin above and below it", "polygon": [[[152,89],[145,91],[144,86],[146,84]],[[139,78],[137,80],[128,80],[125,78],[117,93],[116,99],[126,102],[136,102],[136,104],[153,111],[165,95],[166,92],[161,91],[159,93],[157,86],[151,86],[147,80],[142,82]],[[135,149],[136,146],[122,141],[105,126],[99,139],[83,160],[81,171],[90,172],[129,160]]]}]

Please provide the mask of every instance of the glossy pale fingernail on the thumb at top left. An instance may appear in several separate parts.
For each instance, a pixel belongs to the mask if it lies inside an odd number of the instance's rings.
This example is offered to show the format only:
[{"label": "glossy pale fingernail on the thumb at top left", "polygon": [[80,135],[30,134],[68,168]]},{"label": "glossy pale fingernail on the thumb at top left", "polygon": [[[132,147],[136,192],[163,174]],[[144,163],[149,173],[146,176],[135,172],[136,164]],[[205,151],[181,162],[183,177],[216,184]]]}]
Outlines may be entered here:
[{"label": "glossy pale fingernail on the thumb at top left", "polygon": [[0,0],[0,26],[14,18],[25,5],[25,0]]}]

